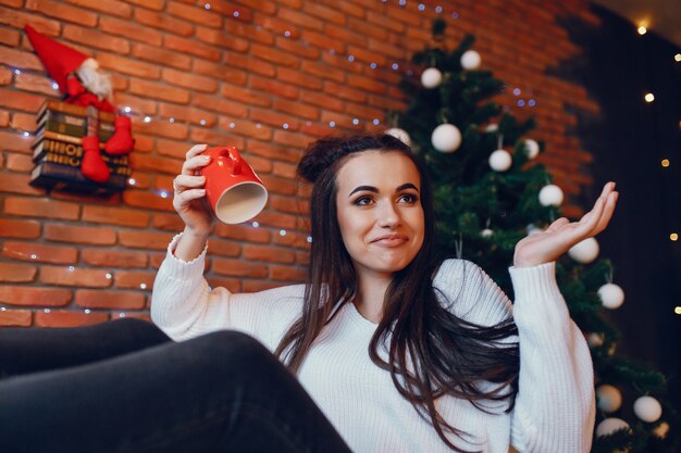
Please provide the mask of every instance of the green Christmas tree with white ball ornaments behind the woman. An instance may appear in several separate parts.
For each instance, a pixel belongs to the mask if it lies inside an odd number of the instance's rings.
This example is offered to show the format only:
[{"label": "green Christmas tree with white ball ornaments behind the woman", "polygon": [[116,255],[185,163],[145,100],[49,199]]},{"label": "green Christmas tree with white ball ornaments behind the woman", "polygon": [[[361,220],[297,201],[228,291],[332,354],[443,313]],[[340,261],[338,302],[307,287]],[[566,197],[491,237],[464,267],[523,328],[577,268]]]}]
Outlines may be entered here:
[{"label": "green Christmas tree with white ball ornaments behind the woman", "polygon": [[[413,55],[424,71],[400,83],[409,105],[392,113],[395,127],[388,134],[410,141],[432,177],[443,256],[475,262],[512,300],[508,266],[515,246],[561,216],[562,192],[534,161],[543,149],[531,139],[534,121],[504,112],[494,98],[505,86],[478,70],[474,38],[448,50],[445,27],[436,21],[431,43]],[[592,451],[677,452],[679,421],[665,398],[665,376],[615,354],[619,332],[604,305],[618,305],[622,294],[610,281],[611,263],[595,260],[597,254],[597,242],[587,240],[556,265],[594,362],[598,411]]]}]

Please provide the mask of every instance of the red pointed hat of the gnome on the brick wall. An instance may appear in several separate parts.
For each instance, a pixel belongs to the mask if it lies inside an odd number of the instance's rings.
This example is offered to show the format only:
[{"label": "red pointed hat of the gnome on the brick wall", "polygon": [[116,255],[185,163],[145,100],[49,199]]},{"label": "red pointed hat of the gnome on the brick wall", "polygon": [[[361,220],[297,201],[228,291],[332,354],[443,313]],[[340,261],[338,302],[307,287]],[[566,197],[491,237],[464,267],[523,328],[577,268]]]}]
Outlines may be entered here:
[{"label": "red pointed hat of the gnome on the brick wall", "polygon": [[57,42],[52,38],[37,32],[30,25],[26,25],[24,29],[45,68],[59,85],[60,91],[66,93],[66,77],[76,71],[89,56],[69,46]]}]

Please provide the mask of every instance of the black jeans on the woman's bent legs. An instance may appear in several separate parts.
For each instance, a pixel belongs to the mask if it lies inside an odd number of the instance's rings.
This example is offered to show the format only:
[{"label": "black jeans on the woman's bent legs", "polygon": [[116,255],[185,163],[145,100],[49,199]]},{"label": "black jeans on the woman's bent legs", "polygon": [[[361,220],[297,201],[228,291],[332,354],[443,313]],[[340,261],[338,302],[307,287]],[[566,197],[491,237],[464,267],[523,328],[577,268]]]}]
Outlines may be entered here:
[{"label": "black jeans on the woman's bent legs", "polygon": [[297,379],[258,341],[176,343],[136,319],[0,329],[0,450],[344,452]]}]

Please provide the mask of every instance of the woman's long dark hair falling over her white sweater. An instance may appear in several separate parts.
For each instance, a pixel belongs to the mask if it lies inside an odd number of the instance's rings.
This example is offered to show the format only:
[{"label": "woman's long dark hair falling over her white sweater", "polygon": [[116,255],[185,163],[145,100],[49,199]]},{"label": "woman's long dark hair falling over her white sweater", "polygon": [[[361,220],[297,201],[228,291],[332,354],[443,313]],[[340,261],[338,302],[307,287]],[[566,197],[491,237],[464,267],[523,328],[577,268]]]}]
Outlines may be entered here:
[{"label": "woman's long dark hair falling over her white sweater", "polygon": [[[421,177],[420,200],[424,216],[423,246],[404,269],[393,276],[383,301],[383,318],[369,344],[369,355],[391,373],[399,393],[433,425],[453,450],[463,452],[445,436],[466,432],[450,426],[437,412],[435,400],[448,394],[486,411],[483,401],[513,405],[519,369],[518,343],[505,341],[517,334],[508,319],[496,326],[479,326],[450,313],[432,285],[439,263],[433,259],[435,214],[432,189],[423,166],[410,148],[389,135],[327,137],[311,143],[298,164],[298,175],[313,184],[310,199],[312,247],[302,314],[274,352],[297,373],[314,339],[338,309],[357,294],[357,276],[345,249],[336,217],[336,174],[346,156],[379,150],[408,156]],[[423,285],[429,282],[430,285]],[[441,297],[444,297],[441,294]],[[448,304],[448,303],[447,303]],[[388,361],[377,353],[385,344]],[[493,382],[492,390],[480,385]]]}]

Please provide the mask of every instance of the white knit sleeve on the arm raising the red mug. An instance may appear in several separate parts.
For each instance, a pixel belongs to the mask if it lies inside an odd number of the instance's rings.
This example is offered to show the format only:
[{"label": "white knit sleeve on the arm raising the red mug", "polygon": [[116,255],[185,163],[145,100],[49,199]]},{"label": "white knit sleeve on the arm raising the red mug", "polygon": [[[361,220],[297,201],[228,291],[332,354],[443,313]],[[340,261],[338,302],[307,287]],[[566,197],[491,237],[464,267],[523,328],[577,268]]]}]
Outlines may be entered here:
[{"label": "white knit sleeve on the arm raising the red mug", "polygon": [[211,289],[203,278],[208,246],[187,263],[173,254],[179,237],[175,236],[169,244],[153,282],[153,323],[176,341],[233,329],[252,336],[273,350],[299,316],[302,287],[234,294],[222,287]]}]

